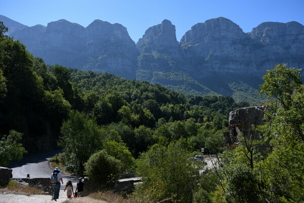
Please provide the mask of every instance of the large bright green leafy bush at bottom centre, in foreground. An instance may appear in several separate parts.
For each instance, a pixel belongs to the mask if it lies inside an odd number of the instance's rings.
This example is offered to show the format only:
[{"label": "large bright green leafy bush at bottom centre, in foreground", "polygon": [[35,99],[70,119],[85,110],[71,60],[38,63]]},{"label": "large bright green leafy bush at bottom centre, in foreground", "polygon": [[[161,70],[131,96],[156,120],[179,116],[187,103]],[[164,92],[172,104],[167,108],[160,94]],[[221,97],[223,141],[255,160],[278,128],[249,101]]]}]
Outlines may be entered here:
[{"label": "large bright green leafy bush at bottom centre, in foreground", "polygon": [[174,201],[191,202],[192,190],[200,182],[200,165],[188,162],[190,156],[181,142],[168,147],[153,145],[138,160],[138,175],[143,183],[135,193],[144,193],[153,201],[172,198]]}]

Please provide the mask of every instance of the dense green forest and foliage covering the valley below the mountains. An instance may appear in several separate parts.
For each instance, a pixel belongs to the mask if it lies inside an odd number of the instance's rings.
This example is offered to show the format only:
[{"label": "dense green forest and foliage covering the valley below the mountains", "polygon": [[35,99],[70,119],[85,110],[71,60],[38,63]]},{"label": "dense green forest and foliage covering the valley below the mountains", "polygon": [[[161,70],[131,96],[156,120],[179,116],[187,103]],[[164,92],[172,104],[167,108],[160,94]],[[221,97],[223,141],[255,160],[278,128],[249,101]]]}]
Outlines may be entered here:
[{"label": "dense green forest and foliage covering the valley below the mountains", "polygon": [[[247,107],[231,96],[186,96],[158,84],[61,65],[46,65],[0,22],[0,161],[62,148],[66,170],[100,188],[126,172],[142,184],[130,202],[303,202],[304,93],[300,70],[277,65],[260,94],[271,102],[260,139],[223,146],[230,111]],[[237,90],[246,88],[232,84]],[[8,134],[8,136],[7,136]],[[22,139],[22,140],[21,140]],[[21,140],[23,146],[18,143]],[[259,151],[269,143],[271,148]],[[218,164],[189,157],[218,154]],[[9,157],[4,159],[3,157]]]}]

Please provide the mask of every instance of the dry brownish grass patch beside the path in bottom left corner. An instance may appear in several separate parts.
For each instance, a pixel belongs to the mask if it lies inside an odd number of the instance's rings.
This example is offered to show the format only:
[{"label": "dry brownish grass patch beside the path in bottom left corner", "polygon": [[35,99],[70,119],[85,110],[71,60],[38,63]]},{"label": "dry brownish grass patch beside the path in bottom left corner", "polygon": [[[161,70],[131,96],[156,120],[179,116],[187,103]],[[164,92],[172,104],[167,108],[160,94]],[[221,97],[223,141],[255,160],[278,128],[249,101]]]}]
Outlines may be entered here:
[{"label": "dry brownish grass patch beside the path in bottom left corner", "polygon": [[0,192],[7,192],[13,194],[23,194],[23,195],[32,195],[32,194],[45,194],[40,188],[30,187],[30,186],[21,186],[18,185],[14,180],[10,180],[6,188],[0,188]]}]

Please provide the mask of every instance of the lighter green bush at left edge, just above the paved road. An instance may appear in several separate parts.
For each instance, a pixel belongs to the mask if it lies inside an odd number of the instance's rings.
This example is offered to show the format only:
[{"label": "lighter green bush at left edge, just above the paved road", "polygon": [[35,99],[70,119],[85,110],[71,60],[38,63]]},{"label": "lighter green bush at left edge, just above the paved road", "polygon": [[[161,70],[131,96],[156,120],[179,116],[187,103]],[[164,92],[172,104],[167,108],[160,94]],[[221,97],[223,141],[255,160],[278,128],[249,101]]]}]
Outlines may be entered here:
[{"label": "lighter green bush at left edge, just above the paved road", "polygon": [[25,151],[21,143],[23,134],[11,130],[8,136],[4,136],[0,141],[0,166],[7,166],[13,160],[21,160]]}]

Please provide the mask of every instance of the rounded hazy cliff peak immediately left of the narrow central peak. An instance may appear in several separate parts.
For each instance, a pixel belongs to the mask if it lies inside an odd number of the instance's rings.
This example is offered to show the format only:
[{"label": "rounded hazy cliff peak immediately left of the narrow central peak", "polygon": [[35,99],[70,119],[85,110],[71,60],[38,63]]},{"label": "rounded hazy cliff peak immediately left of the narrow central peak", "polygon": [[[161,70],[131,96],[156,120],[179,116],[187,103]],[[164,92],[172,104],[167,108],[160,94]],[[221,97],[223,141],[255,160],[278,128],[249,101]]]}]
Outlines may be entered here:
[{"label": "rounded hazy cliff peak immediately left of the narrow central peak", "polygon": [[90,60],[85,70],[135,77],[139,52],[121,24],[95,20],[86,27],[85,47],[84,55]]}]

